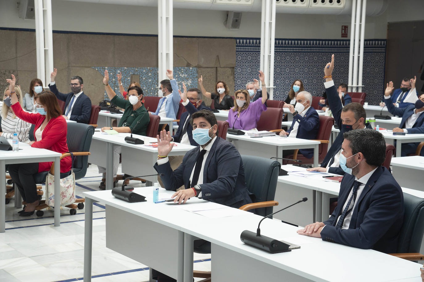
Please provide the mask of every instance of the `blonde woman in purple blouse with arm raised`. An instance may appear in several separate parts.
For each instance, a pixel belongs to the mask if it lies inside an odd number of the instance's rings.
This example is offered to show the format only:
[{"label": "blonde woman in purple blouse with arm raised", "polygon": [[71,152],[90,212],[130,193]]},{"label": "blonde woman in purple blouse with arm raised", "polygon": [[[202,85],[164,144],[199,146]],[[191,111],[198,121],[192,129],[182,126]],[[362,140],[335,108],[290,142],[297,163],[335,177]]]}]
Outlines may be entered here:
[{"label": "blonde woman in purple blouse with arm raised", "polygon": [[267,100],[265,75],[261,71],[259,71],[259,80],[262,83],[261,99],[250,102],[249,92],[245,89],[237,90],[234,93],[236,105],[234,105],[234,108],[231,108],[228,113],[227,122],[229,123],[229,128],[256,130],[257,122],[262,112],[267,109],[264,105]]}]

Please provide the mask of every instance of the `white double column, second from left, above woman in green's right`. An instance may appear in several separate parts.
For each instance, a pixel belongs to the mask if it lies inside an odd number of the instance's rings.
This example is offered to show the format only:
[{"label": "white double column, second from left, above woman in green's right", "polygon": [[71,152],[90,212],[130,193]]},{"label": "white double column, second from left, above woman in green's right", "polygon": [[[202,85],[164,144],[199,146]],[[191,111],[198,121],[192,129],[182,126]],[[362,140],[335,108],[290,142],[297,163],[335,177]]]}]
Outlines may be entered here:
[{"label": "white double column, second from left, above woman in green's right", "polygon": [[158,84],[173,69],[173,5],[172,0],[158,0]]}]

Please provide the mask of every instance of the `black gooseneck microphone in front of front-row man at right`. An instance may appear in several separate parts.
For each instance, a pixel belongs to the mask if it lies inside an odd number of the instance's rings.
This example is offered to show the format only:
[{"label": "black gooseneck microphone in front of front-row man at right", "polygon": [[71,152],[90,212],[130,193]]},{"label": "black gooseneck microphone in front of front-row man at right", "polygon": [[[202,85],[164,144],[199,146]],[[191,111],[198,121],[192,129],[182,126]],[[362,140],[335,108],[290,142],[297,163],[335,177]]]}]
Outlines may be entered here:
[{"label": "black gooseneck microphone in front of front-row man at right", "polygon": [[271,213],[268,216],[264,216],[264,218],[262,218],[261,221],[259,221],[258,229],[257,229],[256,233],[251,232],[249,230],[244,230],[240,234],[240,240],[243,243],[248,244],[249,246],[255,247],[257,249],[261,249],[261,250],[268,252],[268,253],[271,253],[271,254],[282,253],[282,252],[290,252],[291,251],[291,249],[289,249],[290,245],[287,245],[286,243],[280,242],[276,239],[269,238],[269,237],[261,235],[261,229],[259,228],[259,226],[261,225],[262,220],[264,220],[265,218],[268,218],[268,217],[270,217],[270,216],[272,216],[276,213],[279,213],[280,211],[285,210],[285,209],[287,209],[291,206],[294,206],[298,203],[306,202],[307,200],[308,200],[308,198],[303,198],[300,201],[294,203],[293,205],[285,207],[284,209],[276,211],[275,213]]}]

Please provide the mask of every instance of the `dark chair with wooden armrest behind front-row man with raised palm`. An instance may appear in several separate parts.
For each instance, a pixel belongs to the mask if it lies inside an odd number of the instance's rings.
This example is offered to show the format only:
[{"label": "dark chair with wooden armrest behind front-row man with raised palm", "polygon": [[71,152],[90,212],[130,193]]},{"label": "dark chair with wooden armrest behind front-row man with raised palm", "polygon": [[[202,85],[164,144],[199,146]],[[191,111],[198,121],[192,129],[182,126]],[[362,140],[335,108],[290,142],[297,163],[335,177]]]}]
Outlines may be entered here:
[{"label": "dark chair with wooden armrest behind front-row man with raised palm", "polygon": [[[278,202],[274,201],[274,197],[281,168],[280,163],[276,160],[248,155],[241,155],[241,158],[244,165],[246,187],[256,196],[256,201],[240,207],[240,210],[255,209],[255,214],[259,216],[273,213],[273,206],[278,205]],[[200,246],[196,246],[195,243],[194,252],[209,254],[211,252],[210,242],[205,241]],[[206,278],[202,281],[210,281],[207,279],[210,279],[211,273],[210,271],[194,271],[193,276]]]}]

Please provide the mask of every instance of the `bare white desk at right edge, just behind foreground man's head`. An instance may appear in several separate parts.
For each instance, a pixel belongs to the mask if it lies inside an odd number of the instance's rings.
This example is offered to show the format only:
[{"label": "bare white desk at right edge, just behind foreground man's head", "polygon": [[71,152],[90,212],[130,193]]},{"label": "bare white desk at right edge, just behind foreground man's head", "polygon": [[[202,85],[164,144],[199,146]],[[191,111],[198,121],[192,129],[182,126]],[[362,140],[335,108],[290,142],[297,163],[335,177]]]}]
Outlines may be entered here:
[{"label": "bare white desk at right edge, just behind foreground man's head", "polygon": [[392,166],[393,177],[399,185],[402,187],[424,191],[424,157],[410,156],[392,158],[390,164]]}]

